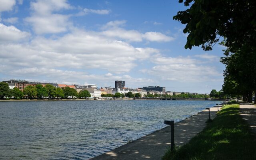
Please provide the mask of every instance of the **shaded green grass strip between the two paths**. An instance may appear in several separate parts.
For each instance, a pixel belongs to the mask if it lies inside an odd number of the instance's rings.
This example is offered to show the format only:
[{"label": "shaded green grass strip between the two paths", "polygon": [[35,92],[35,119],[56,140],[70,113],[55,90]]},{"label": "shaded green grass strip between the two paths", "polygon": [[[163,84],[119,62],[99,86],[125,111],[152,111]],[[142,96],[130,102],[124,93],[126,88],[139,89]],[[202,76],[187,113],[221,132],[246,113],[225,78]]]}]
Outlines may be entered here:
[{"label": "shaded green grass strip between the two paths", "polygon": [[239,105],[226,105],[202,132],[162,160],[256,160],[256,140],[238,114]]}]

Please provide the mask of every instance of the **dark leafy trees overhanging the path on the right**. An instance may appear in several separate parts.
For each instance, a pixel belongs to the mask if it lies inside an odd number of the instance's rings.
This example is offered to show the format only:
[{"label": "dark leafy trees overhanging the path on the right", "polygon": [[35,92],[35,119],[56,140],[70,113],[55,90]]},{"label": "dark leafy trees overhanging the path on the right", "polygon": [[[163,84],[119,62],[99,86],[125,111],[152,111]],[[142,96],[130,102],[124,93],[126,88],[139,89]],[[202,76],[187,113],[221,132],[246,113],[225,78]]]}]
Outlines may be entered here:
[{"label": "dark leafy trees overhanging the path on the right", "polygon": [[[212,50],[224,46],[222,90],[228,96],[252,102],[256,93],[256,0],[179,0],[188,8],[174,20],[186,24],[185,48]],[[254,101],[256,104],[256,101]]]}]

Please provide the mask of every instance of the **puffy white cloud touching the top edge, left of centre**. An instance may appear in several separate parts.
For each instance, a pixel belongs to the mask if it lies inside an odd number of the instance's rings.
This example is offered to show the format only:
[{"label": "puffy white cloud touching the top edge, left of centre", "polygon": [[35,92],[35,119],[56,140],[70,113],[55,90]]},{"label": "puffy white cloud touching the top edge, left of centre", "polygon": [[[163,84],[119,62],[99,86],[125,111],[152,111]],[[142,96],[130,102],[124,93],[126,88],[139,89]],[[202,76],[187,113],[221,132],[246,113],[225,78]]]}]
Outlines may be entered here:
[{"label": "puffy white cloud touching the top edge, left of centre", "polygon": [[66,0],[37,0],[30,2],[32,16],[25,18],[25,21],[33,26],[36,34],[66,32],[70,25],[68,22],[70,15],[53,12],[72,8]]}]

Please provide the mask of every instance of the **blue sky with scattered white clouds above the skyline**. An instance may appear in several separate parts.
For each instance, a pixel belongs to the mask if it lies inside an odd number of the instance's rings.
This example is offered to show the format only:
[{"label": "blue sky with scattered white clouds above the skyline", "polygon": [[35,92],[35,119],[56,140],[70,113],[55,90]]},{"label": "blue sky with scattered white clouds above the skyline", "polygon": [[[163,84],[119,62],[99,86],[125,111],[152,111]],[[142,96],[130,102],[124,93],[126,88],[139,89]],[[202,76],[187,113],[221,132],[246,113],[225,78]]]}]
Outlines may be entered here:
[{"label": "blue sky with scattered white clouds above the skyline", "polygon": [[223,46],[185,49],[178,0],[0,0],[0,80],[210,93]]}]

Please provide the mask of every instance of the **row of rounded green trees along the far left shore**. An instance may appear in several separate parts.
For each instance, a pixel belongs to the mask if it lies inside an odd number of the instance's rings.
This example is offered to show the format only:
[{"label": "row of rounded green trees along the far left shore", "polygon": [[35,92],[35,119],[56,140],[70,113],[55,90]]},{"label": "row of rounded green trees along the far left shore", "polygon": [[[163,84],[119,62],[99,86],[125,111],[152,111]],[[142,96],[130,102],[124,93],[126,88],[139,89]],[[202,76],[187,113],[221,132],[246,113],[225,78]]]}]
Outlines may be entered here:
[{"label": "row of rounded green trees along the far left shore", "polygon": [[55,88],[50,84],[42,86],[37,84],[36,86],[27,86],[24,88],[23,92],[18,88],[10,89],[7,83],[0,82],[0,98],[1,99],[67,99],[67,98],[89,98],[91,94],[88,90],[80,91],[79,93],[70,87],[65,88]]}]

